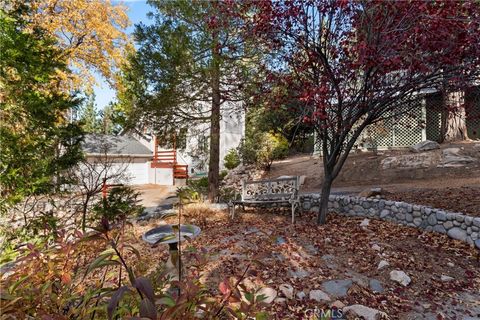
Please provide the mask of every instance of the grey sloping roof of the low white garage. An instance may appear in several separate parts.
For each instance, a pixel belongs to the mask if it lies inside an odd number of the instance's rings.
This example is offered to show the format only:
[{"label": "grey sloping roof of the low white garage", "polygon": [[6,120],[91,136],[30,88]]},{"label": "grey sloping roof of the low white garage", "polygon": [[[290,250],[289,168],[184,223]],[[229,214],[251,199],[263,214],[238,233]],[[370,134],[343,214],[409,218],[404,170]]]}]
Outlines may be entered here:
[{"label": "grey sloping roof of the low white garage", "polygon": [[104,154],[130,157],[152,156],[150,149],[127,135],[86,134],[82,142],[82,149],[90,156]]}]

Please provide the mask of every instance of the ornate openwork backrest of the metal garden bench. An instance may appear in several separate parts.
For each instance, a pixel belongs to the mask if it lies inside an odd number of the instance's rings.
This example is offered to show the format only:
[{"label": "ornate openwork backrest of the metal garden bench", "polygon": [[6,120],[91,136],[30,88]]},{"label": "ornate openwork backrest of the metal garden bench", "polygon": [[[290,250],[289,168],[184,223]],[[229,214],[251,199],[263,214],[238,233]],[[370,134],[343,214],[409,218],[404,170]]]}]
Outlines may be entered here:
[{"label": "ornate openwork backrest of the metal garden bench", "polygon": [[290,199],[298,194],[299,177],[242,181],[242,201]]}]

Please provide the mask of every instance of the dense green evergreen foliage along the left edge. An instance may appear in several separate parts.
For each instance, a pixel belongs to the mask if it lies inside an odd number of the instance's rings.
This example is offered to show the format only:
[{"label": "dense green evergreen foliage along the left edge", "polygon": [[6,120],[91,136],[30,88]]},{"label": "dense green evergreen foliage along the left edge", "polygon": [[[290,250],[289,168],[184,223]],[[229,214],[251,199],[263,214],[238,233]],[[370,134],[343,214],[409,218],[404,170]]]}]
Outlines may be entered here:
[{"label": "dense green evergreen foliage along the left edge", "polygon": [[65,61],[54,39],[25,32],[23,23],[0,11],[2,206],[52,190],[81,157],[81,131],[67,121],[80,101],[58,87]]}]

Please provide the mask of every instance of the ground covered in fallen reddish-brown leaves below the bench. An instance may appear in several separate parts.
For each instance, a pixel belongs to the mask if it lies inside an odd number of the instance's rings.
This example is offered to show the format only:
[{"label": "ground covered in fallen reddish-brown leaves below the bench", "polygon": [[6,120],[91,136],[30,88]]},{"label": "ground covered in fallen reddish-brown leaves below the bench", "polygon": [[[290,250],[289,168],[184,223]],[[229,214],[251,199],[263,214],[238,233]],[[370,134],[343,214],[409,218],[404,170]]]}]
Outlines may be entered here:
[{"label": "ground covered in fallen reddish-brown leaves below the bench", "polygon": [[[188,210],[182,221],[200,225],[202,233],[183,247],[207,250],[201,279],[212,291],[223,279],[238,278],[251,259],[258,259],[261,264],[253,265],[244,283],[278,292],[269,305],[276,319],[308,318],[309,310],[339,301],[384,311],[391,319],[480,317],[476,249],[445,235],[385,221],[371,220],[361,227],[362,220],[331,215],[326,225],[317,226],[314,216],[306,214],[292,225],[282,214],[251,211],[232,221],[225,212]],[[137,236],[158,223],[136,226]],[[152,269],[167,258],[166,246],[150,248],[141,240],[138,246]],[[389,266],[378,270],[381,260]],[[403,287],[390,280],[392,270],[407,273],[411,283]],[[442,275],[453,280],[442,281]],[[322,290],[325,281],[334,279],[353,281],[347,295],[331,296],[329,302],[309,299],[310,290]],[[372,291],[372,279],[380,282],[382,293]],[[279,290],[282,284],[293,286],[293,298]],[[297,295],[301,292],[303,299]]]}]

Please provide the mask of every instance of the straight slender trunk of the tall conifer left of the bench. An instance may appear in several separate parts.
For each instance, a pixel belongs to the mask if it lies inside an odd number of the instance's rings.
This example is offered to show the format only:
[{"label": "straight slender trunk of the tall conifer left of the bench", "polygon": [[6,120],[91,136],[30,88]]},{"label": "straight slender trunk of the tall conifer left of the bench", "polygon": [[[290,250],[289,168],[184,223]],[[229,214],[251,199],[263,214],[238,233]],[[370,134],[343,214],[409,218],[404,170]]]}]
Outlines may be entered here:
[{"label": "straight slender trunk of the tall conifer left of the bench", "polygon": [[[214,39],[216,36],[214,35]],[[210,158],[208,163],[208,200],[214,202],[218,193],[220,171],[220,66],[219,51],[214,41],[212,69],[212,113],[210,118]]]}]

